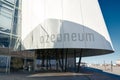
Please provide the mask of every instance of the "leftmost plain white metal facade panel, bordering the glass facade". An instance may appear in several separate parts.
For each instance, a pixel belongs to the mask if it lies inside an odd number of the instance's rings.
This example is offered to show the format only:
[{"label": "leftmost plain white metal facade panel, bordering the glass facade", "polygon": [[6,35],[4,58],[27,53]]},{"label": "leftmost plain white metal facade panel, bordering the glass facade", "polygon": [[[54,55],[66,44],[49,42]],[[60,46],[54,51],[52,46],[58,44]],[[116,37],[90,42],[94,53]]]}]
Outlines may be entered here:
[{"label": "leftmost plain white metal facade panel, bordering the glass facade", "polygon": [[45,19],[45,0],[22,0],[22,40]]}]

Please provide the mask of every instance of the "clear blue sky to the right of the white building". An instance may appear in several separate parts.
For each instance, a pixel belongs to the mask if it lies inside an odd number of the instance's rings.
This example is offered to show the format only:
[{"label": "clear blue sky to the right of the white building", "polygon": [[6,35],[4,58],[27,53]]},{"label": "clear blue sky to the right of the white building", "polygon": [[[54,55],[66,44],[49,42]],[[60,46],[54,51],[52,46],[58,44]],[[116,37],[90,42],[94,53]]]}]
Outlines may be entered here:
[{"label": "clear blue sky to the right of the white building", "polygon": [[83,62],[88,63],[110,63],[120,59],[120,0],[99,0],[99,4],[107,25],[115,52],[112,54],[85,57]]}]

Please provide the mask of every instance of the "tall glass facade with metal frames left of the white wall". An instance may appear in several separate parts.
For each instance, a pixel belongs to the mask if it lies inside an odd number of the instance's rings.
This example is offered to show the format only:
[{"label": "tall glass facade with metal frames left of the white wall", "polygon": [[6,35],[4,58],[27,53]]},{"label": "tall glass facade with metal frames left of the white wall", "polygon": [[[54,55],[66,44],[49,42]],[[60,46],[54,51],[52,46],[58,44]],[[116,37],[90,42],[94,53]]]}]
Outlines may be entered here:
[{"label": "tall glass facade with metal frames left of the white wall", "polygon": [[20,49],[21,0],[0,0],[0,48]]}]

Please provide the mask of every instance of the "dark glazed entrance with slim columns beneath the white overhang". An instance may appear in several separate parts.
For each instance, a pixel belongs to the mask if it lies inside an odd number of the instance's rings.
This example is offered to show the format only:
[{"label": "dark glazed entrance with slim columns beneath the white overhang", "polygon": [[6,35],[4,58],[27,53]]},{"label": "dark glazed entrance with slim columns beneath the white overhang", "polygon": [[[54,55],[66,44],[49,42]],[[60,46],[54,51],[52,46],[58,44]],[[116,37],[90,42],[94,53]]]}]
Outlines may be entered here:
[{"label": "dark glazed entrance with slim columns beneath the white overhang", "polygon": [[72,52],[68,49],[36,50],[37,60],[35,69],[37,71],[79,72],[81,53],[79,54],[78,65],[76,65],[76,50],[72,50]]}]

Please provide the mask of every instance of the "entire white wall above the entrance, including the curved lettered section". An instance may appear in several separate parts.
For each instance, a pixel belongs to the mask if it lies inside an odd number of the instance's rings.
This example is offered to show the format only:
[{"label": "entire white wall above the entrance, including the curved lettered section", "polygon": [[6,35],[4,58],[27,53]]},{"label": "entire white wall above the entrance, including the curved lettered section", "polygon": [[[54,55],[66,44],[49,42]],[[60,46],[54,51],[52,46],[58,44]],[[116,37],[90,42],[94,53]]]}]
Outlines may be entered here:
[{"label": "entire white wall above the entrance, including the curved lettered section", "polygon": [[113,51],[98,0],[23,0],[22,46]]}]

